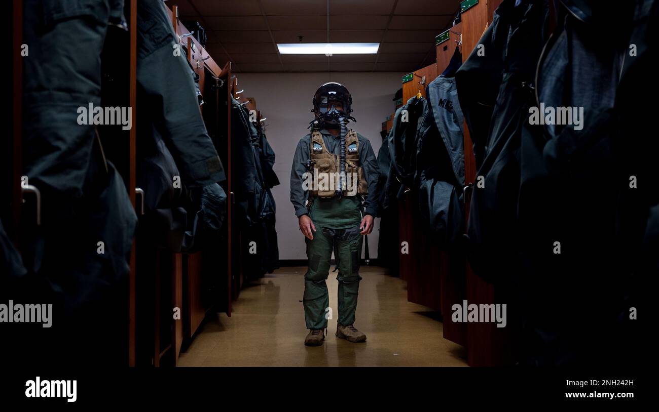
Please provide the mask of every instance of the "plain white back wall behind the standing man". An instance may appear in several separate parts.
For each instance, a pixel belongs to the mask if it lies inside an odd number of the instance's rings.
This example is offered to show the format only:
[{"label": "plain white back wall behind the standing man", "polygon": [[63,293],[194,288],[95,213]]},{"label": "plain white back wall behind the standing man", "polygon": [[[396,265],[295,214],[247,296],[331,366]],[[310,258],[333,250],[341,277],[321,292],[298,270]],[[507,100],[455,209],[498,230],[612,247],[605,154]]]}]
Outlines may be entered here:
[{"label": "plain white back wall behind the standing man", "polygon": [[[256,108],[267,117],[266,136],[275,154],[275,172],[279,186],[272,193],[277,203],[277,234],[279,259],[306,259],[304,236],[299,230],[295,210],[290,199],[291,166],[297,142],[308,133],[307,126],[314,118],[312,99],[318,86],[326,82],[339,82],[353,96],[353,116],[357,123],[351,126],[368,138],[375,154],[382,145],[380,130],[386,116],[393,113],[391,100],[401,88],[397,72],[368,73],[239,73],[238,89],[245,97],[256,99]],[[370,257],[378,253],[380,219],[368,236]]]}]

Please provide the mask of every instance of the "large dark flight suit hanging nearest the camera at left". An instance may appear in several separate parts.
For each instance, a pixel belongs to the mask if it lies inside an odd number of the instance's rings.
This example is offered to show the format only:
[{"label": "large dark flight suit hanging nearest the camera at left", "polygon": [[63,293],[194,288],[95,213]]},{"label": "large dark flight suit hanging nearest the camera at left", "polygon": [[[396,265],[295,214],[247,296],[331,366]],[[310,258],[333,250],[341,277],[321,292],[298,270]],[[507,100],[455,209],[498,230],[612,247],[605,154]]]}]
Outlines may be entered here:
[{"label": "large dark flight suit hanging nearest the camera at left", "polygon": [[[12,292],[53,303],[59,321],[38,342],[47,336],[61,344],[29,358],[114,363],[121,359],[117,348],[125,347],[137,219],[123,179],[103,155],[96,126],[80,121],[80,108],[101,106],[101,51],[108,26],[125,27],[123,1],[26,0],[22,7],[29,47],[23,60],[22,172],[40,190],[42,204],[40,226],[22,223],[21,253],[28,276],[45,290],[40,296],[34,289]],[[99,359],[97,350],[108,356]]]}]

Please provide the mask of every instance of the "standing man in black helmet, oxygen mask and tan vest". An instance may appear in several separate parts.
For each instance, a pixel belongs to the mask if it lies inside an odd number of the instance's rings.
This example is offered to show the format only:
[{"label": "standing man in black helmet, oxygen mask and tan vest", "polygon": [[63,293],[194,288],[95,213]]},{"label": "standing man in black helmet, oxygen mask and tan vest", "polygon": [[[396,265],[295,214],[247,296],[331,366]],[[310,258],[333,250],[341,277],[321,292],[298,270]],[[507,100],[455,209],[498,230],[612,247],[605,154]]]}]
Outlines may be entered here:
[{"label": "standing man in black helmet, oxygen mask and tan vest", "polygon": [[[362,235],[373,229],[378,207],[378,162],[368,139],[347,128],[353,99],[341,84],[329,82],[313,99],[311,133],[297,144],[291,170],[291,203],[306,242],[304,344],[320,346],[328,325],[326,279],[332,251],[339,274],[336,336],[364,342],[355,326]],[[305,205],[306,203],[306,205]],[[363,204],[362,204],[363,203]]]}]

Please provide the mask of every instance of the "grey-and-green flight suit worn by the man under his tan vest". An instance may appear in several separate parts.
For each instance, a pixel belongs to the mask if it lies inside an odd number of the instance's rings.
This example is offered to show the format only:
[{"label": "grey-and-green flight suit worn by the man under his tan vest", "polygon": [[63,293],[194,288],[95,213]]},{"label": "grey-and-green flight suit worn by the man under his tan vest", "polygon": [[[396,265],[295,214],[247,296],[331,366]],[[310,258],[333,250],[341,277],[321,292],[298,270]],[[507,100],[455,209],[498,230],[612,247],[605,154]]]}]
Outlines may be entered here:
[{"label": "grey-and-green flight suit worn by the man under his tan vest", "polygon": [[[327,130],[320,130],[328,151],[338,155],[340,138],[332,136]],[[327,327],[326,308],[329,307],[329,294],[326,280],[332,251],[335,252],[339,274],[338,322],[344,326],[355,322],[357,296],[359,289],[359,261],[362,249],[360,235],[361,216],[365,213],[375,217],[378,213],[378,161],[368,139],[357,134],[359,143],[360,166],[368,182],[368,196],[361,205],[362,197],[344,196],[337,202],[332,199],[309,199],[308,191],[302,186],[303,174],[307,171],[309,159],[310,135],[300,140],[293,156],[291,170],[291,203],[295,215],[308,214],[316,226],[313,240],[305,238],[306,255],[309,267],[304,274],[304,319],[306,328],[323,329]],[[307,200],[309,205],[305,205]],[[307,209],[308,207],[308,209]],[[363,213],[362,213],[363,212]]]}]

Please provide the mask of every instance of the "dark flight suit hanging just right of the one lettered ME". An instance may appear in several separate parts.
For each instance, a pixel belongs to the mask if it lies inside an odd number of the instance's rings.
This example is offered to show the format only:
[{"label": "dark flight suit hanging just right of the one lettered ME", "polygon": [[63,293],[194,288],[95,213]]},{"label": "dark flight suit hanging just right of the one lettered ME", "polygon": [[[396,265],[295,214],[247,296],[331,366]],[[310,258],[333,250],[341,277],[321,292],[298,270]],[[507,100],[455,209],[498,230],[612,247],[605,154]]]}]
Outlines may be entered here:
[{"label": "dark flight suit hanging just right of the one lettered ME", "polygon": [[505,0],[480,43],[455,74],[476,157],[467,255],[484,280],[511,282],[517,272],[517,192],[521,128],[529,115],[532,84],[548,36],[546,0]]}]

